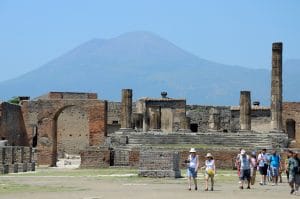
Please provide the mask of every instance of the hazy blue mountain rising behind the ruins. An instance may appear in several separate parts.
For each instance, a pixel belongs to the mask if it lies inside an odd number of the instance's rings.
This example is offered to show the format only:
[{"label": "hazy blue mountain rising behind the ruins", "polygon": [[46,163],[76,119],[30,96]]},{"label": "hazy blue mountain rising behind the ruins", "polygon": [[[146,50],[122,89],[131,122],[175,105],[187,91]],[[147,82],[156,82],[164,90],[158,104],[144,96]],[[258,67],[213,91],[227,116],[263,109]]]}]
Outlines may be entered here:
[{"label": "hazy blue mountain rising behind the ruins", "polygon": [[[270,60],[271,63],[271,60]],[[300,60],[284,65],[284,98],[296,93]],[[211,62],[149,32],[130,32],[112,39],[93,39],[38,69],[0,83],[0,98],[40,96],[49,91],[97,92],[100,99],[120,101],[121,89],[134,98],[186,98],[189,104],[237,105],[240,90],[269,105],[269,70]],[[288,88],[286,88],[288,87]]]}]

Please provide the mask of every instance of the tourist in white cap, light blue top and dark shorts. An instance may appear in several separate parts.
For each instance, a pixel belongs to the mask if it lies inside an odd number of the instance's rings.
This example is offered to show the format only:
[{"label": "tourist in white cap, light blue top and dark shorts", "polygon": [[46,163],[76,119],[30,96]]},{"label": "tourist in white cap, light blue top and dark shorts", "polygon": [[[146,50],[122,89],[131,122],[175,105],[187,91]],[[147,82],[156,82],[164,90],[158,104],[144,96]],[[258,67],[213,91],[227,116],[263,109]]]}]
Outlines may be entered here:
[{"label": "tourist in white cap, light blue top and dark shorts", "polygon": [[246,154],[246,151],[243,149],[241,151],[240,159],[239,159],[240,165],[241,165],[241,173],[240,173],[240,180],[241,185],[240,189],[244,189],[245,181],[247,181],[247,189],[250,189],[250,164],[251,160],[250,157]]}]

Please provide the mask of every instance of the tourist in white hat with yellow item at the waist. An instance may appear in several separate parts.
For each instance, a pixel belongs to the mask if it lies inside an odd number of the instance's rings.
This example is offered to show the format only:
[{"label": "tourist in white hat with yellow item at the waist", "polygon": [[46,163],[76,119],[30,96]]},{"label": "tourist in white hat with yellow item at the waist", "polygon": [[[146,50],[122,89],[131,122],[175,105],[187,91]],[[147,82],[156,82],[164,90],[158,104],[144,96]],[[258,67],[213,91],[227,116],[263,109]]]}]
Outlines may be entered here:
[{"label": "tourist in white hat with yellow item at the waist", "polygon": [[[216,165],[215,160],[211,153],[208,153],[205,160],[205,166],[202,168],[205,168],[205,191],[208,191],[208,180],[210,179],[211,186],[210,190],[214,190],[214,177],[216,174]],[[201,168],[201,169],[202,169]]]}]

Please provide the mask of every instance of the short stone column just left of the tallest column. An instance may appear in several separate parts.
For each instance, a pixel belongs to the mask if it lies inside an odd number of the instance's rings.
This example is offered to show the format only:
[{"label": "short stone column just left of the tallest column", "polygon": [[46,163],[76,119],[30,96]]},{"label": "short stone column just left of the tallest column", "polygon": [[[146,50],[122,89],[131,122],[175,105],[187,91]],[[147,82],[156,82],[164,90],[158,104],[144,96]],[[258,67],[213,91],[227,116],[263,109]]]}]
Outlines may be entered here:
[{"label": "short stone column just left of the tallest column", "polygon": [[250,91],[241,91],[240,95],[240,130],[251,130]]}]

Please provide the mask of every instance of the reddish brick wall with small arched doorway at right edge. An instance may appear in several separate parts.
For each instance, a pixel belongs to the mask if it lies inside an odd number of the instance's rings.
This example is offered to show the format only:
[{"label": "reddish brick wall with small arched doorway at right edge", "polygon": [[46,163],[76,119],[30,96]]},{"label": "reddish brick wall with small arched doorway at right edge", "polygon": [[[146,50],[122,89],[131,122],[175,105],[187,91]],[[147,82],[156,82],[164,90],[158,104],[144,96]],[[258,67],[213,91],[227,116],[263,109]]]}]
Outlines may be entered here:
[{"label": "reddish brick wall with small arched doorway at right edge", "polygon": [[283,129],[288,133],[288,120],[295,123],[295,139],[300,143],[300,102],[284,102],[283,103]]}]

